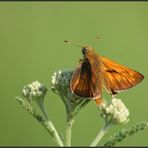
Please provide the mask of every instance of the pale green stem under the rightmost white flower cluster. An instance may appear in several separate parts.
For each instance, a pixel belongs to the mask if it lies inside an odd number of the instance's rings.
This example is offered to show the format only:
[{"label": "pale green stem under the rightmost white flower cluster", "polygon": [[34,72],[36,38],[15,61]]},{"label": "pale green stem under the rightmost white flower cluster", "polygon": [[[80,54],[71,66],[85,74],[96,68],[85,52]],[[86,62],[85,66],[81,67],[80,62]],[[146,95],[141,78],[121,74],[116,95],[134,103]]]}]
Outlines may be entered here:
[{"label": "pale green stem under the rightmost white flower cluster", "polygon": [[104,127],[100,130],[100,132],[98,133],[98,135],[96,136],[96,138],[93,140],[93,142],[90,144],[90,146],[96,146],[99,141],[103,138],[103,136],[105,135],[105,133],[108,131],[108,128],[111,126],[111,123],[105,123]]}]

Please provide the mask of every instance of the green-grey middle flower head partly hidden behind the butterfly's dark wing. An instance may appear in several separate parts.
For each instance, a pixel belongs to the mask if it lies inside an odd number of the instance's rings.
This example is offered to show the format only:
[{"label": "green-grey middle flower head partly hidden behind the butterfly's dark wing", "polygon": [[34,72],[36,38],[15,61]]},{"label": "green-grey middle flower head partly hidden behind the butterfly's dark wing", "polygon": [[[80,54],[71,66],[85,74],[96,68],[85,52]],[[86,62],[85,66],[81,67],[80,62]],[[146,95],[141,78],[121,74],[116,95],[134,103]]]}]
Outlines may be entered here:
[{"label": "green-grey middle flower head partly hidden behind the butterfly's dark wing", "polygon": [[73,70],[59,70],[54,72],[51,79],[51,89],[63,100],[66,110],[75,112],[74,114],[77,114],[82,106],[85,106],[90,99],[76,96],[71,92],[70,80],[73,72]]}]

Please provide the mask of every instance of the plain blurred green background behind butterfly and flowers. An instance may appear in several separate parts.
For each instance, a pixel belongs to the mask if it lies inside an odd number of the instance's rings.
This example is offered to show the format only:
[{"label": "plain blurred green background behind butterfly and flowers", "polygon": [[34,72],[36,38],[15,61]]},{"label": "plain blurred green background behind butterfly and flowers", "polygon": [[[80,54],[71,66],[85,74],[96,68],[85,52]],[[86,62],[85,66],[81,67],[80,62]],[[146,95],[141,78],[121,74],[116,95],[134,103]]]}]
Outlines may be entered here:
[{"label": "plain blurred green background behind butterfly and flowers", "polygon": [[[65,39],[93,47],[100,55],[141,72],[145,79],[119,94],[130,110],[130,122],[109,130],[105,139],[124,127],[148,119],[148,3],[147,2],[1,2],[0,3],[0,145],[54,146],[48,133],[15,100],[24,85],[38,80],[49,92],[45,105],[60,133],[65,132],[65,108],[50,90],[51,75],[74,69],[80,48]],[[106,94],[105,94],[106,95]],[[89,145],[103,126],[95,103],[77,116],[72,145]],[[120,146],[146,146],[148,129]]]}]

